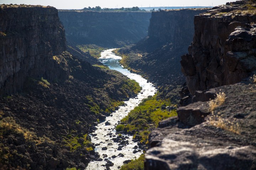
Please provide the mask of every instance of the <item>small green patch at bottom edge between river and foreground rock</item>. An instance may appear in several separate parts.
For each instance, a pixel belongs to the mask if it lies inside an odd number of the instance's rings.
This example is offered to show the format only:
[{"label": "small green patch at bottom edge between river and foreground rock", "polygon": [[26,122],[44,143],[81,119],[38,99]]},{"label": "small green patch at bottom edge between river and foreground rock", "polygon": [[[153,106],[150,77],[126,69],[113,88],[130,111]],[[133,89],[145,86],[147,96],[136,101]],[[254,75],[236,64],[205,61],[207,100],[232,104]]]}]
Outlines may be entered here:
[{"label": "small green patch at bottom edge between river and foreground rock", "polygon": [[120,170],[143,170],[144,169],[144,154],[140,155],[138,159],[130,161],[128,164],[122,165]]}]

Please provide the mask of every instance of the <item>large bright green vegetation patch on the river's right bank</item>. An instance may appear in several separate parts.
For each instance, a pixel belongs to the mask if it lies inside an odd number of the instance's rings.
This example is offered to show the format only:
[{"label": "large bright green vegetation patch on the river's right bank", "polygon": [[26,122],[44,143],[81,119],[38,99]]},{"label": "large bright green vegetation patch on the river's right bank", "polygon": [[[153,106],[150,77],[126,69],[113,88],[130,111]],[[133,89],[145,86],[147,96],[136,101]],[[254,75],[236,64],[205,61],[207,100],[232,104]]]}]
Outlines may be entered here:
[{"label": "large bright green vegetation patch on the river's right bank", "polygon": [[166,106],[176,105],[171,104],[170,99],[158,98],[158,93],[149,96],[121,120],[122,124],[117,125],[116,130],[119,132],[136,130],[136,134],[140,135],[140,142],[146,143],[150,128],[156,128],[160,121],[177,115],[176,110],[169,111]]}]

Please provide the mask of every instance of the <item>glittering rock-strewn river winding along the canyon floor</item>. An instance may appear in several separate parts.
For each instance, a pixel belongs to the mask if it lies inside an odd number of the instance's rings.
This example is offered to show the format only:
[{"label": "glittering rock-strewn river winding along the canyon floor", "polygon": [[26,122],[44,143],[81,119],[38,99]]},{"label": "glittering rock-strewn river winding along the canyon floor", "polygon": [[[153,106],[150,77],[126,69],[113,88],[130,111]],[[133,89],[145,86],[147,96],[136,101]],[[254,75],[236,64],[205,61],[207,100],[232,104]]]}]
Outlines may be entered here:
[{"label": "glittering rock-strewn river winding along the canyon floor", "polygon": [[[123,165],[123,161],[135,159],[138,158],[142,151],[133,153],[134,146],[137,145],[137,142],[133,142],[132,138],[133,136],[124,135],[126,136],[126,140],[129,141],[129,144],[127,146],[124,146],[122,150],[117,150],[118,144],[114,142],[112,139],[114,138],[113,135],[116,135],[116,125],[118,124],[118,121],[123,119],[127,114],[134,109],[138,104],[145,98],[147,98],[149,95],[154,95],[156,92],[156,88],[153,86],[152,83],[147,83],[147,80],[144,79],[142,76],[137,75],[135,73],[131,73],[127,69],[124,69],[123,66],[119,64],[119,61],[121,60],[120,56],[116,56],[114,53],[112,53],[113,49],[105,50],[101,53],[100,61],[107,65],[112,70],[117,70],[121,72],[123,75],[126,75],[130,79],[134,79],[137,81],[142,87],[143,94],[139,93],[137,97],[130,98],[129,101],[124,102],[124,106],[120,106],[120,108],[112,113],[113,116],[108,116],[105,121],[98,124],[97,130],[91,134],[92,142],[95,144],[100,144],[96,146],[95,152],[98,152],[100,154],[100,158],[103,159],[103,161],[91,161],[89,165],[87,166],[86,170],[104,170],[106,167],[102,166],[107,163],[107,161],[104,161],[105,158],[103,158],[103,154],[107,154],[107,159],[112,161],[114,163],[113,166],[111,166],[111,170],[117,170],[118,166]],[[105,125],[105,122],[110,122],[110,125]],[[109,130],[110,129],[110,130]],[[107,133],[113,133],[113,135],[107,135]],[[94,137],[94,135],[96,135]],[[110,143],[112,145],[110,145]],[[102,150],[103,147],[107,147],[107,150]],[[119,153],[122,153],[124,157],[116,157],[111,158],[113,155],[118,155]]]}]

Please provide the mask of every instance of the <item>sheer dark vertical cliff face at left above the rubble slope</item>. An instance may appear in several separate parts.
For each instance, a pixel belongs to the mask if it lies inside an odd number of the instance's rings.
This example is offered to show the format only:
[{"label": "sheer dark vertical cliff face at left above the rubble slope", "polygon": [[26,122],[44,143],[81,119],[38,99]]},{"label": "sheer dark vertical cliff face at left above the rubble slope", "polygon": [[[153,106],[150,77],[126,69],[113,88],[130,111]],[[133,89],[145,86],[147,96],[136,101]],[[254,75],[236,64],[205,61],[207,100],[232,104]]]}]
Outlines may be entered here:
[{"label": "sheer dark vertical cliff face at left above the rubble slope", "polygon": [[20,90],[27,76],[66,77],[53,60],[66,50],[64,28],[53,7],[1,6],[0,46],[0,96]]}]

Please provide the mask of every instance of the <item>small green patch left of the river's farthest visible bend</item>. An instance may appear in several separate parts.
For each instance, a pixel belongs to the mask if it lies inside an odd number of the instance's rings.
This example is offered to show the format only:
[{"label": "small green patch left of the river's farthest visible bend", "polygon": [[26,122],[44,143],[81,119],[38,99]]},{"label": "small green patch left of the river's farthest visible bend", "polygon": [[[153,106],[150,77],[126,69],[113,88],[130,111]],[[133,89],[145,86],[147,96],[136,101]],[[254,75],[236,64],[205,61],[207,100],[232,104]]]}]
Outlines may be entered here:
[{"label": "small green patch left of the river's farthest visible bend", "polygon": [[95,57],[96,59],[100,58],[101,51],[106,50],[106,48],[97,46],[95,44],[77,45],[77,47],[84,52],[88,51],[90,55]]}]

